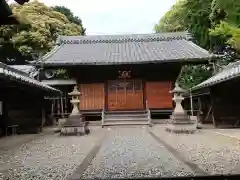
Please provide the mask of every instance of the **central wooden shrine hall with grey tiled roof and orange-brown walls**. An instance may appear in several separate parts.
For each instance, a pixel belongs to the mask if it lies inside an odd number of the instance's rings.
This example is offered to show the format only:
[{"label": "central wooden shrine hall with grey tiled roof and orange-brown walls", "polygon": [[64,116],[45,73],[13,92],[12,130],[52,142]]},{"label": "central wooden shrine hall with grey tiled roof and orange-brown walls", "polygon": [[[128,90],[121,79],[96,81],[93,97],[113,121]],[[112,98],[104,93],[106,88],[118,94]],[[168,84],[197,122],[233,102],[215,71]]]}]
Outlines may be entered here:
[{"label": "central wooden shrine hall with grey tiled roof and orange-brown walls", "polygon": [[169,91],[182,66],[210,58],[187,32],[60,36],[35,65],[43,83],[65,92],[63,99],[78,85],[79,108],[86,116],[146,111],[152,116],[172,112]]}]

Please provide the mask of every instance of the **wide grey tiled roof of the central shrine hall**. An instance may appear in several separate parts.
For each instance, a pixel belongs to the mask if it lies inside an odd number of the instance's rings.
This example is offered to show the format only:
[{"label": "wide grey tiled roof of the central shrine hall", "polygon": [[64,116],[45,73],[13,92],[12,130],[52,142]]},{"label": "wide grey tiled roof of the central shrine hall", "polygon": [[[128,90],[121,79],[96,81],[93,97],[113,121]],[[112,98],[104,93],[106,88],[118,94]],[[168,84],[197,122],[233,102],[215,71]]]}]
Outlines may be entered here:
[{"label": "wide grey tiled roof of the central shrine hall", "polygon": [[190,41],[186,32],[61,36],[57,46],[38,63],[45,65],[141,64],[207,60],[208,51]]}]

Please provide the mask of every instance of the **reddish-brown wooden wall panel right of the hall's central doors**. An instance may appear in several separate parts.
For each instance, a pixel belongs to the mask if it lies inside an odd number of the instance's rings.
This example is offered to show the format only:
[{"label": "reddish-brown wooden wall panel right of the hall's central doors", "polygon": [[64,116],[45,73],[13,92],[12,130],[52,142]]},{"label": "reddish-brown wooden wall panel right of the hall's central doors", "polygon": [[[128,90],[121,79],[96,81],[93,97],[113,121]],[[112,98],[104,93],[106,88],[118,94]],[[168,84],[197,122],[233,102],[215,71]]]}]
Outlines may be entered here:
[{"label": "reddish-brown wooden wall panel right of the hall's central doors", "polygon": [[146,82],[146,100],[151,109],[173,108],[171,81],[165,82]]}]

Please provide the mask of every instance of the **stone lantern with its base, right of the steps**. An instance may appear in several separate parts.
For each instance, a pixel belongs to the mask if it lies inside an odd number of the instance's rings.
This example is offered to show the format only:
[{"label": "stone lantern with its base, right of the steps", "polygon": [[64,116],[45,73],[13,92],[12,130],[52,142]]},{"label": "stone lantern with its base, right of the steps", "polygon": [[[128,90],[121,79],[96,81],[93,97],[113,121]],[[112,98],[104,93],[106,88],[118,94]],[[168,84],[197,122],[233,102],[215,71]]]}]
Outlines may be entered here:
[{"label": "stone lantern with its base, right of the steps", "polygon": [[170,116],[170,123],[167,125],[166,131],[174,133],[193,133],[196,131],[196,122],[190,119],[181,104],[184,100],[182,94],[186,92],[177,83],[175,84],[175,88],[170,91],[170,93],[174,94],[173,101],[175,102],[175,108]]}]

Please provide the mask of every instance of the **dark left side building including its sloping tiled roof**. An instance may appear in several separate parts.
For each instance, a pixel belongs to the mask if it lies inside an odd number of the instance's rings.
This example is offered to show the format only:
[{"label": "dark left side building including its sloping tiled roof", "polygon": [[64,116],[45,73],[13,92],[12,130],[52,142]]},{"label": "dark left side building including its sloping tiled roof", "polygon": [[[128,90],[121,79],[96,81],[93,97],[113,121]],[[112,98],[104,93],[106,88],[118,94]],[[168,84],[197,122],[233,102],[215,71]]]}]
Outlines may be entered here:
[{"label": "dark left side building including its sloping tiled roof", "polygon": [[0,136],[40,132],[50,118],[49,102],[44,97],[61,95],[59,90],[35,80],[22,67],[26,70],[28,66],[0,63]]}]

